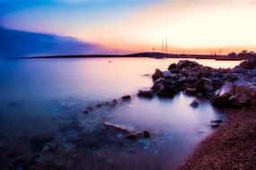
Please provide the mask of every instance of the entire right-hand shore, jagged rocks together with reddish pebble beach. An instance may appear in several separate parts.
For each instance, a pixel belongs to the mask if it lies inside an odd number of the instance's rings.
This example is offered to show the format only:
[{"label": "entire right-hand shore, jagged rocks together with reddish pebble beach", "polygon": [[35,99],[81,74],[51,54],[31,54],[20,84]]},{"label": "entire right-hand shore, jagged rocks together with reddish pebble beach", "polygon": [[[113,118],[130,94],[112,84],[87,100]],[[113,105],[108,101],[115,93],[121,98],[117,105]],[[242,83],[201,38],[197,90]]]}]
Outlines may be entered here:
[{"label": "entire right-hand shore, jagged rocks together with reddish pebble beach", "polygon": [[[203,140],[180,169],[254,169],[256,166],[256,60],[233,69],[213,69],[196,62],[180,61],[167,71],[156,69],[154,85],[147,93],[172,97],[183,91],[209,98],[223,108],[227,122]],[[138,93],[140,96],[141,92]],[[143,94],[146,94],[144,91]],[[148,95],[145,95],[148,97]],[[190,106],[197,107],[197,101]],[[239,109],[238,109],[239,108]],[[217,120],[218,127],[222,120]]]}]

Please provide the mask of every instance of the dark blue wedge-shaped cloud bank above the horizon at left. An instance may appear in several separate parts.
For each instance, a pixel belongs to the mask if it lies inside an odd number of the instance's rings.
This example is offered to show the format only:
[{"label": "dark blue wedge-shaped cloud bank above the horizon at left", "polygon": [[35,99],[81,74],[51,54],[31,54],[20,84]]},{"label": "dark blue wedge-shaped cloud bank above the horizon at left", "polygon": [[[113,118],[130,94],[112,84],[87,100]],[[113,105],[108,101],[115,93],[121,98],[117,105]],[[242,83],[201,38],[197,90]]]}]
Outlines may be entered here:
[{"label": "dark blue wedge-shaped cloud bank above the horizon at left", "polygon": [[81,42],[75,38],[10,30],[0,26],[0,56],[106,54],[100,45]]}]

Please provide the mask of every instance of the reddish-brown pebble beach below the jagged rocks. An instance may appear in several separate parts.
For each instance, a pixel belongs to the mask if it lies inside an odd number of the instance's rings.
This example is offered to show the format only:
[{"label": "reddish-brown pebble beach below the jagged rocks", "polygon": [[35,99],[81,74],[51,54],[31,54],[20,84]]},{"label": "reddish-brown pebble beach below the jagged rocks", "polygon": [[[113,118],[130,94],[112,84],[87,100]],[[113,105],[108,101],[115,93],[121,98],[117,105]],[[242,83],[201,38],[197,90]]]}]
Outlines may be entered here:
[{"label": "reddish-brown pebble beach below the jagged rocks", "polygon": [[225,109],[227,121],[180,169],[255,169],[256,106]]}]

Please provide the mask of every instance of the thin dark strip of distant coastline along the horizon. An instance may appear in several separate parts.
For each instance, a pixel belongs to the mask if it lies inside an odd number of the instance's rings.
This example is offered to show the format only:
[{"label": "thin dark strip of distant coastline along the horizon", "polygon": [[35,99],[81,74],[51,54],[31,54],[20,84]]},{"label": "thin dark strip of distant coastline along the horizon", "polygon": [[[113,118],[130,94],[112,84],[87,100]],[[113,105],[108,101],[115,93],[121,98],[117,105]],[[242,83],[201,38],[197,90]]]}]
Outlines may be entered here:
[{"label": "thin dark strip of distant coastline along the horizon", "polygon": [[246,59],[255,58],[254,56],[229,56],[229,55],[185,55],[185,54],[164,54],[164,53],[136,53],[128,55],[39,55],[26,57],[12,57],[8,59],[47,59],[47,58],[116,58],[116,57],[137,57],[137,58],[194,58],[194,59],[214,59],[214,60],[229,60],[242,61]]}]

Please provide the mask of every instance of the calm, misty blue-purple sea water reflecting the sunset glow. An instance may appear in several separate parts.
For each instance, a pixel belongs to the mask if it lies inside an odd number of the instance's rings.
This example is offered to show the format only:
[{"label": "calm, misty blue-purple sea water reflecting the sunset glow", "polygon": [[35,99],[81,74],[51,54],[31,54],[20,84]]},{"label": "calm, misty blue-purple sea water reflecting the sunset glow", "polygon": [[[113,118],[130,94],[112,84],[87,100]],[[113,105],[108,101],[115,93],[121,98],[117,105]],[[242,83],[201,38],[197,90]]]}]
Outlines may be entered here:
[{"label": "calm, misty blue-purple sea water reflecting the sunset glow", "polygon": [[[195,98],[182,93],[151,100],[136,97],[138,89],[153,84],[146,74],[177,62],[152,58],[0,60],[0,150],[34,155],[40,150],[31,149],[31,137],[52,132],[51,142],[66,149],[54,159],[66,165],[75,163],[76,169],[173,169],[210,134],[210,121],[221,115],[205,98],[197,98],[198,108],[190,107]],[[216,68],[240,63],[197,62]],[[133,95],[132,100],[97,108],[89,115],[82,113],[86,106],[125,95]],[[102,122],[134,132],[147,130],[152,137],[131,142],[119,140],[121,134],[116,132],[110,139],[102,139]],[[81,132],[84,140],[96,140],[97,147],[68,140]],[[80,161],[74,158],[77,156]]]}]

